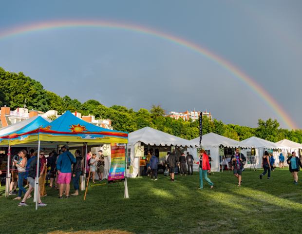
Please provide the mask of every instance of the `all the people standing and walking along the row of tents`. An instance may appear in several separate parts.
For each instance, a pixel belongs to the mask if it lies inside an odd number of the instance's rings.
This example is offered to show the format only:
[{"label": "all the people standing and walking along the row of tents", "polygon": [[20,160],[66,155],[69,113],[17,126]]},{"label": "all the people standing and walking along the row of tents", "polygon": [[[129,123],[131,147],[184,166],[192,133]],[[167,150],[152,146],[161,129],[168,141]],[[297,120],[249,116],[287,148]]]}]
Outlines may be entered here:
[{"label": "all the people standing and walking along the row of tents", "polygon": [[[100,181],[103,180],[103,172],[105,166],[105,159],[102,154],[102,150],[98,151],[98,156],[92,154],[91,151],[86,155],[86,182],[89,179],[92,179],[92,182],[95,183],[95,172],[97,173]],[[166,171],[170,174],[170,181],[174,182],[175,169],[179,169],[180,176],[193,175],[193,163],[198,165],[199,170],[199,180],[200,186],[198,189],[203,189],[203,179],[205,179],[210,188],[214,187],[214,184],[208,178],[208,175],[211,175],[211,162],[212,158],[205,150],[199,151],[198,160],[195,160],[192,155],[187,152],[187,156],[184,153],[181,156],[176,155],[175,149],[172,152],[168,152],[165,160]],[[39,157],[39,165],[37,167]],[[158,158],[153,152],[152,155],[150,151],[147,152],[147,168],[150,170],[151,180],[157,180],[157,166]],[[280,168],[284,168],[284,156],[281,153],[279,156]],[[233,152],[229,160],[230,168],[229,170],[233,171],[233,175],[238,179],[237,186],[241,186],[242,183],[242,172],[244,170],[244,165],[246,162],[245,156],[240,153],[239,149],[236,149]],[[296,156],[295,152],[287,158],[286,162],[289,165],[289,171],[292,173],[294,178],[294,183],[298,184],[298,172],[300,167],[302,168],[301,160]],[[187,170],[188,166],[188,170]],[[260,175],[260,179],[267,174],[267,179],[271,176],[271,171],[274,171],[275,168],[275,159],[272,154],[269,154],[267,151],[264,152],[262,157],[262,168],[264,172]],[[38,169],[38,206],[43,207],[47,204],[41,202],[41,197],[47,196],[45,188],[45,178],[48,176],[50,180],[49,188],[53,188],[59,191],[58,198],[63,198],[63,195],[66,195],[66,198],[71,196],[79,195],[79,178],[83,175],[84,165],[81,152],[76,150],[75,156],[69,152],[69,146],[64,145],[58,151],[53,151],[46,158],[44,156],[44,151],[42,149],[34,151],[31,150],[30,154],[26,150],[21,150],[15,152],[11,158],[11,183],[9,185],[9,194],[8,195],[17,195],[17,185],[19,188],[18,196],[14,200],[21,200],[22,193],[24,197],[19,203],[19,206],[27,206],[26,199],[32,197],[31,192],[35,190],[35,181],[37,176]],[[2,171],[0,171],[0,175]],[[70,196],[70,182],[73,181],[75,192]],[[26,183],[24,185],[24,181]],[[26,190],[28,188],[28,190]]]}]

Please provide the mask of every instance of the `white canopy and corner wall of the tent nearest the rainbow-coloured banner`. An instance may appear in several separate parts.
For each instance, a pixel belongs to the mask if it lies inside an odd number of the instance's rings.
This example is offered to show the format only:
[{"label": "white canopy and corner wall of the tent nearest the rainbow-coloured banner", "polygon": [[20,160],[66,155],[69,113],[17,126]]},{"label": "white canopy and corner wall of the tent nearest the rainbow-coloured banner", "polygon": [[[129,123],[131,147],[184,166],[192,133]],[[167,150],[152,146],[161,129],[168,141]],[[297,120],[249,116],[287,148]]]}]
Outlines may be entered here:
[{"label": "white canopy and corner wall of the tent nearest the rainbow-coloured banner", "polygon": [[172,136],[168,133],[158,131],[156,129],[145,127],[128,135],[128,154],[131,156],[131,165],[133,165],[132,177],[136,177],[139,171],[139,157],[135,156],[135,146],[140,146],[141,143],[155,146],[177,146],[184,151],[186,147],[196,147],[199,143],[194,143],[189,140]]}]

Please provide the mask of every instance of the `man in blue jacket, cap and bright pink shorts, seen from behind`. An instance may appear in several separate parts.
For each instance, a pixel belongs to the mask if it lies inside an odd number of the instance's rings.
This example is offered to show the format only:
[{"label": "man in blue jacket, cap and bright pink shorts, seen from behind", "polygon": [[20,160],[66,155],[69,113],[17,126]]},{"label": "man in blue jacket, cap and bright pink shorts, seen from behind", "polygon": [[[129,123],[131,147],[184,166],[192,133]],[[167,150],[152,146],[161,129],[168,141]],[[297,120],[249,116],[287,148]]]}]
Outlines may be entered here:
[{"label": "man in blue jacket, cap and bright pink shorts, seen from behind", "polygon": [[62,146],[62,152],[57,159],[57,183],[60,184],[59,198],[63,198],[64,183],[66,184],[66,198],[69,198],[70,180],[71,180],[71,164],[76,162],[76,158],[69,152],[69,146]]}]

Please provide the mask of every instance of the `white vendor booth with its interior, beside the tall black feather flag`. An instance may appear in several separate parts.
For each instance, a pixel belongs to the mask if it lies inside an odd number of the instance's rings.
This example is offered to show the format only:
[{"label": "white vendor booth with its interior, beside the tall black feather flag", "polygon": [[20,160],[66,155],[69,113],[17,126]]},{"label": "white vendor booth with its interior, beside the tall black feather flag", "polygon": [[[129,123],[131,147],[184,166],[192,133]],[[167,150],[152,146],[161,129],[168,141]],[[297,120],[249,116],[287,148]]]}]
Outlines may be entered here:
[{"label": "white vendor booth with its interior, beside the tall black feather flag", "polygon": [[[199,137],[190,141],[199,143]],[[241,153],[247,157],[246,152],[247,150],[250,151],[253,148],[253,145],[223,137],[215,133],[208,133],[202,137],[201,147],[205,149],[207,154],[210,155],[213,160],[213,162],[211,162],[211,171],[219,172],[220,165],[222,165],[222,170],[224,170],[224,167],[229,167],[228,163],[230,157],[235,152],[236,148],[240,148]],[[199,160],[199,152],[197,152],[198,150],[199,148],[189,149],[190,154],[196,161]],[[193,165],[193,170],[198,171],[198,165]]]}]

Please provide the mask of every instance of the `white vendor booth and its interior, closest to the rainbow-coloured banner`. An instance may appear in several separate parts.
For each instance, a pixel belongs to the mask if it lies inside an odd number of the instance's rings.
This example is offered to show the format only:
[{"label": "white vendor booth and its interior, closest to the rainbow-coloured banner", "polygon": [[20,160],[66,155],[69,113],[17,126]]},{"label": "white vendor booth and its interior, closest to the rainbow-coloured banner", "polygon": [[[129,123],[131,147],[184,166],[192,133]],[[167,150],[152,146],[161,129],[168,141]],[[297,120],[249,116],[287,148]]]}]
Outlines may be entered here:
[{"label": "white vendor booth and its interior, closest to the rainbow-coloured banner", "polygon": [[[155,156],[158,157],[158,170],[161,172],[165,169],[164,162],[167,152],[172,152],[174,147],[177,156],[181,156],[181,153],[186,153],[189,147],[196,147],[199,143],[194,143],[189,140],[175,137],[170,134],[158,131],[156,129],[145,127],[129,134],[128,143],[128,156],[129,165],[132,166],[132,177],[144,175],[146,167],[147,151],[150,153],[155,152]],[[129,170],[130,172],[130,170]]]}]

